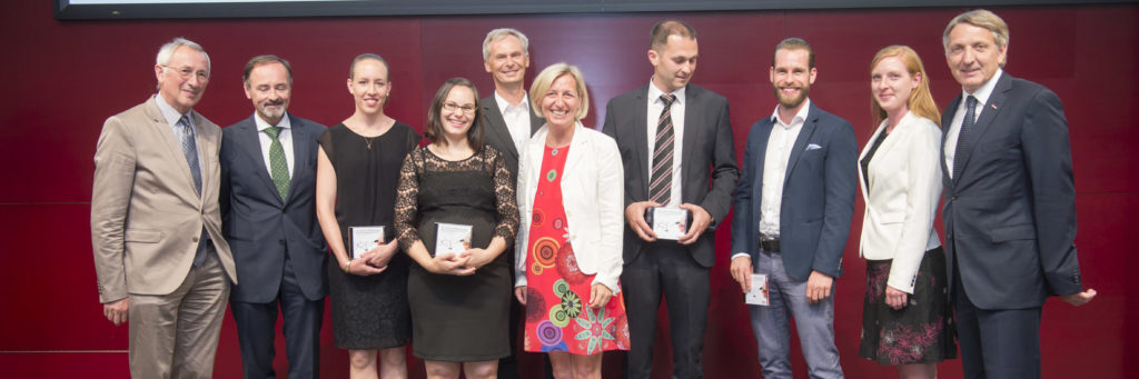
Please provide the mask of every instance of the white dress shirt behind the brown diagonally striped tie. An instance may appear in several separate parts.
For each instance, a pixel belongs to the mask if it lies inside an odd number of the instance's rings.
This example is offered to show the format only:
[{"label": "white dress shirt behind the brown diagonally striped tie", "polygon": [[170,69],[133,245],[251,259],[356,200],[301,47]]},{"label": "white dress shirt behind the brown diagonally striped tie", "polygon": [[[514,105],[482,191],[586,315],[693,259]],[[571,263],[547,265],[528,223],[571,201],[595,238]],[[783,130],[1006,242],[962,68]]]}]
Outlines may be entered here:
[{"label": "white dress shirt behind the brown diagonally striped tie", "polygon": [[[669,207],[680,206],[680,184],[683,178],[680,175],[681,163],[683,163],[685,146],[685,89],[672,91],[677,100],[672,101],[670,115],[672,117],[672,189],[669,192]],[[653,154],[656,151],[656,124],[661,122],[661,112],[664,112],[664,100],[661,96],[664,91],[656,88],[653,81],[648,85],[648,178],[653,178]]]}]

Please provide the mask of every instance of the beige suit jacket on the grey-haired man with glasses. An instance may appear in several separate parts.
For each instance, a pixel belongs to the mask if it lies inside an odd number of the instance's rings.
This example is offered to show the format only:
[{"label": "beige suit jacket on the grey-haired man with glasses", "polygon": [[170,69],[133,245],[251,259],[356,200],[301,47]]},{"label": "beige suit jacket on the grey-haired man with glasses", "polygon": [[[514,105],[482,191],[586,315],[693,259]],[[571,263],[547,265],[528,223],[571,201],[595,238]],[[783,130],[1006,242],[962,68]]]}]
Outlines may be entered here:
[{"label": "beige suit jacket on the grey-haired man with glasses", "polygon": [[99,302],[167,295],[186,279],[205,228],[229,279],[233,256],[218,207],[221,129],[190,112],[202,159],[202,196],[156,98],[110,116],[95,153],[91,245]]}]

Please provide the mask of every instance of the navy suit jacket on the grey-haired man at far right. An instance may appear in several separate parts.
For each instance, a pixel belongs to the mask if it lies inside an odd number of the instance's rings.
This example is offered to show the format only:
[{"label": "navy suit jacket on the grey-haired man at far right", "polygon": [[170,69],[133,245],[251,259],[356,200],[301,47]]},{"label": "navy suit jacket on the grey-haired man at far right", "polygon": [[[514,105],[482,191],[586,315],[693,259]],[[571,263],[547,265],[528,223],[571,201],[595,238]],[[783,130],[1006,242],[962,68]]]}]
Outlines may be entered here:
[{"label": "navy suit jacket on the grey-haired man at far right", "polygon": [[[949,104],[942,125],[960,101]],[[1081,291],[1072,150],[1059,98],[1003,73],[982,109],[960,175],[950,178],[952,167],[941,159],[949,272],[960,265],[965,291],[983,310],[1038,307],[1049,295]],[[944,139],[942,147],[944,154]]]}]

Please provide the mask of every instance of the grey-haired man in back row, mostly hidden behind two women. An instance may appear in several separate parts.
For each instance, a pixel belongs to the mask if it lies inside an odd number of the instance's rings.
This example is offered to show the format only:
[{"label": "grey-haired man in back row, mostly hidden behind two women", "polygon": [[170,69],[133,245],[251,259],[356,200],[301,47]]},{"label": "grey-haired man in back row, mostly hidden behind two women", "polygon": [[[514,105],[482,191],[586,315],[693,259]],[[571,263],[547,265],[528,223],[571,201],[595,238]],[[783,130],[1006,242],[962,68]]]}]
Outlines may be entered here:
[{"label": "grey-haired man in back row, mostly hidden behind two women", "polygon": [[[526,96],[526,68],[530,67],[530,40],[522,32],[502,27],[486,33],[483,40],[483,67],[494,79],[494,93],[478,100],[483,107],[483,120],[486,130],[486,145],[502,151],[506,167],[510,171],[511,182],[518,179],[518,151],[523,143],[534,134],[544,120],[530,109],[530,97]],[[514,247],[508,246],[507,252]],[[514,254],[507,254],[510,266],[514,267]],[[514,275],[514,271],[510,271]],[[514,279],[510,279],[514,282]],[[510,302],[510,356],[499,360],[499,377],[503,379],[518,378],[518,322],[523,310],[518,303]],[[549,359],[547,359],[548,361]],[[549,362],[547,362],[549,363]],[[546,365],[546,377],[552,378],[550,364]]]}]

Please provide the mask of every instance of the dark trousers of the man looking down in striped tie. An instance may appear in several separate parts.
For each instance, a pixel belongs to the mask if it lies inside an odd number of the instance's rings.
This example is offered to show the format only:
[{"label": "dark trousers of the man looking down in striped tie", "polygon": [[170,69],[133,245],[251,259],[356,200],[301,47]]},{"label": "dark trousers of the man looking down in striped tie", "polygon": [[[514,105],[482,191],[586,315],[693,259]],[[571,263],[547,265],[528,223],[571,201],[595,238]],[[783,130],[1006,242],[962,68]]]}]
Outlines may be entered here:
[{"label": "dark trousers of the man looking down in striped tie", "polygon": [[621,274],[629,318],[630,349],[626,378],[653,376],[653,340],[662,295],[669,312],[673,378],[704,378],[700,351],[707,324],[711,270],[693,259],[675,241],[657,241],[641,248]]}]

